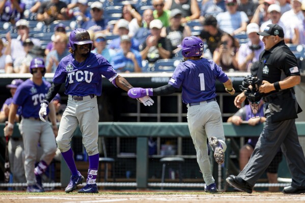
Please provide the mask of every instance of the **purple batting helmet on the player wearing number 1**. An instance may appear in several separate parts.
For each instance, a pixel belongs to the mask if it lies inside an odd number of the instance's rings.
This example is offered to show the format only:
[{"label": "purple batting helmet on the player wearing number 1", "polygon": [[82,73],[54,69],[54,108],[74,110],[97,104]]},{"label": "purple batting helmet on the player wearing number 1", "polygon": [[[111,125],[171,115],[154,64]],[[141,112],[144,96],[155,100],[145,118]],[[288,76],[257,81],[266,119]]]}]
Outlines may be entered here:
[{"label": "purple batting helmet on the player wearing number 1", "polygon": [[203,53],[203,42],[199,37],[185,37],[177,47],[182,48],[184,57],[201,56]]}]

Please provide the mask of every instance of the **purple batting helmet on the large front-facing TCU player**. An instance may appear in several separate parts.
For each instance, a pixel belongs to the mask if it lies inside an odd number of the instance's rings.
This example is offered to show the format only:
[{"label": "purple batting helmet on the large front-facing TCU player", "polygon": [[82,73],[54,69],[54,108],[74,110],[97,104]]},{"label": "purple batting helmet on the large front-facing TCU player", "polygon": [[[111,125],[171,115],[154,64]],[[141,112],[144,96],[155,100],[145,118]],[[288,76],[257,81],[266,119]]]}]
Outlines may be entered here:
[{"label": "purple batting helmet on the large front-facing TCU player", "polygon": [[71,32],[70,34],[70,46],[72,48],[73,51],[75,51],[76,46],[74,44],[77,45],[82,45],[82,44],[90,44],[90,51],[92,49],[92,44],[93,42],[90,39],[90,35],[88,33],[88,31],[82,29],[82,28],[77,28],[74,31]]}]

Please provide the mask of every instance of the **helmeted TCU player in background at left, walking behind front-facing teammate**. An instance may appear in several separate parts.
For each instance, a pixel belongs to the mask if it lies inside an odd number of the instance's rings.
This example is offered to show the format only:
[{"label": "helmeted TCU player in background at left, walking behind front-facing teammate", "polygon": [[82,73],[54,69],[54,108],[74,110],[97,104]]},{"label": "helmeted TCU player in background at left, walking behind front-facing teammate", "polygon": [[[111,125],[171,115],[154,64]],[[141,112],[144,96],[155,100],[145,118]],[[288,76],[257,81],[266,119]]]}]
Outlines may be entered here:
[{"label": "helmeted TCU player in background at left, walking behind front-facing teammate", "polygon": [[[27,182],[27,192],[43,192],[41,175],[52,161],[56,152],[56,141],[54,133],[57,133],[56,114],[52,103],[49,105],[45,116],[49,114],[52,128],[49,123],[43,123],[38,117],[40,103],[51,84],[42,79],[46,69],[42,59],[33,59],[30,64],[30,72],[33,76],[25,80],[17,88],[9,112],[8,126],[5,128],[5,135],[13,133],[14,120],[18,106],[21,106],[21,122],[19,130],[24,144],[24,170]],[[46,119],[46,117],[45,117]],[[43,149],[40,162],[35,167],[37,146]]]}]

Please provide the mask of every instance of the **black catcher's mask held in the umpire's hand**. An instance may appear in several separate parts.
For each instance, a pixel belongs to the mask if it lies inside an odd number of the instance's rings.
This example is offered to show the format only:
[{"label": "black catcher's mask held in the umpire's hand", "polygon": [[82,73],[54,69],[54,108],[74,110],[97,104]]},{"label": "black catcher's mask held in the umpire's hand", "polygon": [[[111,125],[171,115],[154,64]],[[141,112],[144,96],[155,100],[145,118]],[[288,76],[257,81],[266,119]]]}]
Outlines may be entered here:
[{"label": "black catcher's mask held in the umpire's hand", "polygon": [[259,87],[262,81],[253,75],[245,76],[242,84],[239,85],[239,89],[244,92],[250,105],[252,106],[252,118],[258,118],[261,115],[257,114],[259,112],[259,103],[262,99],[262,95],[259,92]]}]

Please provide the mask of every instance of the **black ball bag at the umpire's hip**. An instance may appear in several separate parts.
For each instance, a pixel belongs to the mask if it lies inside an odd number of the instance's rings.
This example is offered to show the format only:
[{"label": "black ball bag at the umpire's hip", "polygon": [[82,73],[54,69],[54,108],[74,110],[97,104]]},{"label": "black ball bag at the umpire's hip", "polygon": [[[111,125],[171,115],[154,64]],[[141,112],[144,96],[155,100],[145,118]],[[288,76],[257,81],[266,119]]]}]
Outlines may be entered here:
[{"label": "black ball bag at the umpire's hip", "polygon": [[268,107],[272,123],[296,119],[298,118],[297,113],[302,111],[291,90],[284,90],[272,94],[271,98],[268,98]]}]

